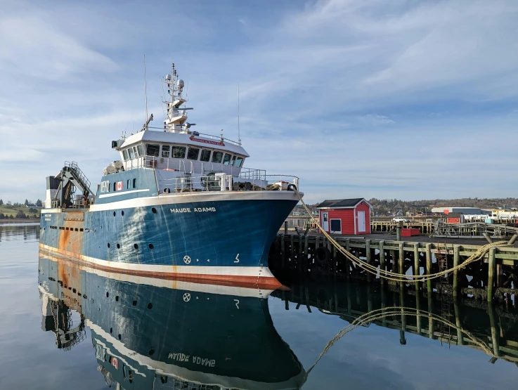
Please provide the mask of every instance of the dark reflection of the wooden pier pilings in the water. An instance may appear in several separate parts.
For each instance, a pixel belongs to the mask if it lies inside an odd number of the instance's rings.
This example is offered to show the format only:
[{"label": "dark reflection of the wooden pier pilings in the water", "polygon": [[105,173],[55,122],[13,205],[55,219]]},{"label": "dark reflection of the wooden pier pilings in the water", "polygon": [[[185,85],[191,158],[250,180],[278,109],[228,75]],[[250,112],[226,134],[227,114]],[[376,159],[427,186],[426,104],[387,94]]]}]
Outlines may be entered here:
[{"label": "dark reflection of the wooden pier pilings in the water", "polygon": [[[401,309],[398,315],[373,320],[373,323],[399,330],[400,344],[406,344],[406,333],[417,334],[443,344],[480,349],[492,356],[491,363],[501,358],[518,366],[516,301],[514,306],[506,306],[491,301],[449,296],[444,298],[447,300],[445,306],[438,295],[432,296],[426,292],[416,294],[413,290],[403,293],[396,285],[362,286],[321,278],[294,285],[291,291],[278,290],[272,295],[285,301],[286,310],[311,312],[316,309],[339,316],[348,323],[378,309],[415,308],[416,311]],[[429,316],[430,313],[436,316]],[[437,318],[444,318],[445,323],[453,323],[455,326],[445,326]]]}]

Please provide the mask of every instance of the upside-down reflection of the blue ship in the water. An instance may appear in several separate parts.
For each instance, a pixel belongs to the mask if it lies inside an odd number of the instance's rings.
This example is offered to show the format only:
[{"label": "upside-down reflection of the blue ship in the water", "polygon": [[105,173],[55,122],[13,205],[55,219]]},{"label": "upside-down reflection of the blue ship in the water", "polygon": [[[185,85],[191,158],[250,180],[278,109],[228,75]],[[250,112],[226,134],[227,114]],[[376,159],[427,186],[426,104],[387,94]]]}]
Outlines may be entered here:
[{"label": "upside-down reflection of the blue ship in the water", "polygon": [[[122,389],[298,389],[304,368],[273,326],[271,290],[141,278],[40,257],[45,331],[91,341]],[[200,385],[204,385],[200,387]]]}]

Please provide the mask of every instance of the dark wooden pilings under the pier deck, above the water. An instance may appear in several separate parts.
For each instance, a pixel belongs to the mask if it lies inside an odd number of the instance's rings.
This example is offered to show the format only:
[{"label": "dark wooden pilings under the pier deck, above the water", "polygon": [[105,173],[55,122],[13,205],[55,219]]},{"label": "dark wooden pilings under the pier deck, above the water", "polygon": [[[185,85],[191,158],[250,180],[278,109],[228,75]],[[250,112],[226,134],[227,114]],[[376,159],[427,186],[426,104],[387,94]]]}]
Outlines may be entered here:
[{"label": "dark wooden pilings under the pier deck, above the water", "polygon": [[[406,275],[431,275],[441,271],[441,264],[453,268],[462,264],[481,245],[437,242],[336,238],[337,242],[359,259],[378,269]],[[442,241],[441,241],[442,240]],[[483,242],[481,242],[483,244]],[[321,247],[321,249],[319,249]],[[440,255],[443,261],[438,261]],[[274,275],[299,273],[326,275],[344,280],[394,284],[380,275],[371,275],[365,268],[352,264],[324,236],[279,234],[268,254],[268,266]],[[518,280],[518,247],[495,247],[483,260],[426,282],[401,282],[403,288],[415,291],[462,294],[488,301],[514,299]]]}]

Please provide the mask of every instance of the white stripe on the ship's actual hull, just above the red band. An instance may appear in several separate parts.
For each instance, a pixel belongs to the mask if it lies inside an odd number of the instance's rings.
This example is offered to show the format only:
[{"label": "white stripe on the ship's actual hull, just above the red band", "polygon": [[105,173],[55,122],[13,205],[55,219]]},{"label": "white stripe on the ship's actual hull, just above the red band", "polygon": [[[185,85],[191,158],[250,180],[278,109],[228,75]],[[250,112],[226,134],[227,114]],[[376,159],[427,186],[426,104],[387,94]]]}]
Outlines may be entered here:
[{"label": "white stripe on the ship's actual hull, just above the red band", "polygon": [[198,275],[221,275],[221,276],[242,276],[249,278],[275,278],[268,267],[242,267],[242,266],[161,266],[157,264],[136,264],[124,263],[122,261],[108,261],[96,259],[95,257],[84,256],[64,250],[40,244],[46,250],[77,257],[83,261],[98,266],[120,269],[124,271],[170,273],[171,275],[198,274]]}]

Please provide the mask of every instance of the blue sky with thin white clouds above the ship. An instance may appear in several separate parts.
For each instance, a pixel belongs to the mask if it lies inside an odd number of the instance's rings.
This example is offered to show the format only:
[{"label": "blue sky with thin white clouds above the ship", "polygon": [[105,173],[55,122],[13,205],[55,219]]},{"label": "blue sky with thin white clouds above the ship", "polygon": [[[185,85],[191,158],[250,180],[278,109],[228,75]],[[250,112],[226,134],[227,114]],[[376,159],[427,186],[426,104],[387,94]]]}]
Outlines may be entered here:
[{"label": "blue sky with thin white clouds above the ship", "polygon": [[162,122],[160,77],[190,120],[237,138],[245,166],[301,178],[306,200],[515,197],[516,1],[0,0],[0,198],[44,198],[75,160]]}]

